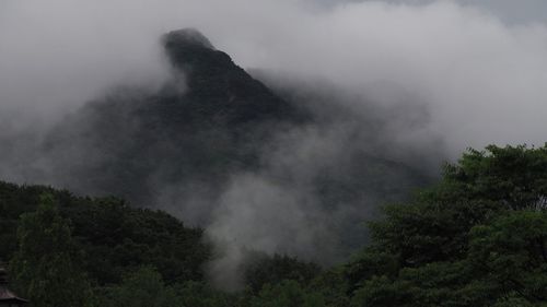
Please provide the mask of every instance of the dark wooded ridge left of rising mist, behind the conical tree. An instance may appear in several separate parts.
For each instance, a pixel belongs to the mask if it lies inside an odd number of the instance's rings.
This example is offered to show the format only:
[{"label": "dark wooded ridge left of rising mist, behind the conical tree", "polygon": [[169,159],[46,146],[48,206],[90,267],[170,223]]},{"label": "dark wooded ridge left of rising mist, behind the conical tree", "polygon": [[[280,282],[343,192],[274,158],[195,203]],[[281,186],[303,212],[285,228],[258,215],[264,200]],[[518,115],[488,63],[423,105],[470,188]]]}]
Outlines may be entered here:
[{"label": "dark wooded ridge left of rising mist, behind the conical tree", "polygon": [[18,219],[33,212],[44,192],[59,203],[70,221],[75,244],[84,253],[83,267],[97,284],[117,283],[125,272],[154,265],[168,283],[200,280],[209,247],[201,229],[188,228],[175,217],[146,209],[133,209],[116,198],[81,198],[68,191],[39,186],[0,182],[1,259],[16,249]]}]

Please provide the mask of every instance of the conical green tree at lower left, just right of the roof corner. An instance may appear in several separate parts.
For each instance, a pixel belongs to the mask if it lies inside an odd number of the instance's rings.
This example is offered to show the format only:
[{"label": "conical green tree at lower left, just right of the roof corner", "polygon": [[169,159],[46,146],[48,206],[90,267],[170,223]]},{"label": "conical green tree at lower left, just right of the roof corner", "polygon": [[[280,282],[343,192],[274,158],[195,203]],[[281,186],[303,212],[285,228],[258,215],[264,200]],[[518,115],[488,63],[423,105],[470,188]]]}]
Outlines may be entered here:
[{"label": "conical green tree at lower left, just right of the roof corner", "polygon": [[93,306],[69,222],[59,215],[51,194],[42,194],[36,212],[21,216],[18,240],[10,271],[33,306]]}]

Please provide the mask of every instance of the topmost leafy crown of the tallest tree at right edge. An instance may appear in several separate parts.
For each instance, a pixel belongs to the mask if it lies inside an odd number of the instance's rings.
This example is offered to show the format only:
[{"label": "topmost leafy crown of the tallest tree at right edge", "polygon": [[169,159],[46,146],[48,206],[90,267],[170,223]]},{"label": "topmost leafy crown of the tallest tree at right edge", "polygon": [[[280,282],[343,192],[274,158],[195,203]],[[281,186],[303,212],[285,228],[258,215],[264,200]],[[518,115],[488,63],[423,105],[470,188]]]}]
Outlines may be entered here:
[{"label": "topmost leafy crown of the tallest tree at right edge", "polygon": [[442,184],[452,184],[467,200],[489,200],[498,209],[547,208],[547,144],[486,151],[469,150],[457,165],[447,165]]}]

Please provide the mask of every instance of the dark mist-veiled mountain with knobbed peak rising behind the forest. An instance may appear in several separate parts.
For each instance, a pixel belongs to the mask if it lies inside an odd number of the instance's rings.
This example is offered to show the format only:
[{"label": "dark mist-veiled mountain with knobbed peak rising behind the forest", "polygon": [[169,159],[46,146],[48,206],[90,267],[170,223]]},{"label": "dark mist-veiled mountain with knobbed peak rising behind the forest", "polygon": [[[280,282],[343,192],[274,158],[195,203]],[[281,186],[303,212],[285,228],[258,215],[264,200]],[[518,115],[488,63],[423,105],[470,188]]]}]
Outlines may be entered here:
[{"label": "dark mist-veiled mountain with knobbed peak rising behind the forest", "polygon": [[345,107],[356,97],[330,85],[269,87],[196,29],[161,43],[171,78],[159,88],[114,87],[67,116],[19,164],[27,182],[120,197],[333,263],[366,240],[362,221],[380,204],[431,181],[428,155],[401,158],[411,151],[397,133],[411,128],[393,111]]}]

